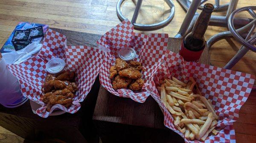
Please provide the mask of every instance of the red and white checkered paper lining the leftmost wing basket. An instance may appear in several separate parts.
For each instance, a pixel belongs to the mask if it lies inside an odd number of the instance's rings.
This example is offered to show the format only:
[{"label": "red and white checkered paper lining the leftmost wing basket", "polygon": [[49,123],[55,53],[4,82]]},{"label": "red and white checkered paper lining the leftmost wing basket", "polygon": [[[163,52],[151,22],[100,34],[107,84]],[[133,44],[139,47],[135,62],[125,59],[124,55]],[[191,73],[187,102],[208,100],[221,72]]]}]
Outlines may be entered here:
[{"label": "red and white checkered paper lining the leftmost wing basket", "polygon": [[[74,97],[73,104],[66,108],[61,104],[56,104],[50,112],[46,111],[45,104],[41,100],[42,85],[47,76],[46,63],[54,58],[61,58],[66,62],[66,68],[76,72],[76,84],[79,89]],[[87,46],[67,46],[65,35],[48,29],[41,51],[25,62],[20,64],[8,65],[11,73],[17,77],[20,82],[23,96],[42,105],[36,110],[36,113],[47,118],[54,109],[61,109],[65,112],[77,112],[84,98],[89,93],[93,83],[98,76],[100,65],[104,59],[104,53],[97,48]]]}]

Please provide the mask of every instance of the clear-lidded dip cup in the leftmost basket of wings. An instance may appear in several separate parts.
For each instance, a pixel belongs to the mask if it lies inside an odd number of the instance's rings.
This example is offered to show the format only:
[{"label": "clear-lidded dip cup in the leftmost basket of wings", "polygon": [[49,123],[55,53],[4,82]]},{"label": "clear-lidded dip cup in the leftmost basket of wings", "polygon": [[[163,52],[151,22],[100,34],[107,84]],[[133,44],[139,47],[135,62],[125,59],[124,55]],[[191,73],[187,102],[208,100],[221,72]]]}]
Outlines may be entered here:
[{"label": "clear-lidded dip cup in the leftmost basket of wings", "polygon": [[63,59],[53,58],[47,62],[46,70],[52,74],[60,73],[64,70],[65,65],[66,63]]}]

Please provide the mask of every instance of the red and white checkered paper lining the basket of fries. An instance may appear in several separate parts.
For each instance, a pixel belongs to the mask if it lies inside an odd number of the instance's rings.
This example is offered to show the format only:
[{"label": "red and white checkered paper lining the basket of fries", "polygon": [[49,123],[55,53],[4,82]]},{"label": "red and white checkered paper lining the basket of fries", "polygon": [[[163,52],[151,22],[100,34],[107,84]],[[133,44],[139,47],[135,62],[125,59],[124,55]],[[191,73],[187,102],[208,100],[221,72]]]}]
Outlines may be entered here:
[{"label": "red and white checkered paper lining the basket of fries", "polygon": [[[151,84],[158,86],[160,79],[171,78],[171,76],[185,83],[188,82],[189,77],[196,79],[202,95],[212,101],[215,112],[219,116],[216,129],[220,132],[216,136],[207,137],[205,143],[235,143],[233,122],[239,117],[239,109],[250,94],[255,76],[206,64],[186,62],[182,56],[171,51],[166,52],[164,61],[157,70],[155,83]],[[155,88],[147,90],[162,108],[166,127],[178,133],[186,143],[204,143],[186,139],[174,126],[174,119],[163,105],[157,90]]]}]

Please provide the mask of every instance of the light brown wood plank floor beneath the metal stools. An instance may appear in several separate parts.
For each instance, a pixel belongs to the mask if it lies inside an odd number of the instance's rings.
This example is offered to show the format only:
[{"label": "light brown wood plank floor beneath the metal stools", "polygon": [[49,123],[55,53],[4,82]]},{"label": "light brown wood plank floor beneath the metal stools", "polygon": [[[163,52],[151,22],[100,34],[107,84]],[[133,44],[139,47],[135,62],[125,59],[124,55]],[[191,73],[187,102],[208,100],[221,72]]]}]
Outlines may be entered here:
[{"label": "light brown wood plank floor beneath the metal stools", "polygon": [[[213,1],[208,2],[213,3]],[[44,23],[52,28],[104,34],[120,22],[116,16],[116,2],[117,0],[0,0],[0,47],[3,46],[19,21]],[[221,0],[221,4],[228,2],[229,0]],[[130,20],[135,3],[136,0],[126,0],[121,7],[123,15]],[[173,3],[175,4],[175,17],[169,25],[156,31],[137,32],[167,33],[170,37],[175,36],[186,13],[176,0],[173,0]],[[244,6],[256,6],[256,0],[240,0],[238,8]],[[137,22],[143,24],[159,22],[168,17],[169,11],[170,8],[164,0],[143,0]],[[213,14],[225,15],[225,12]],[[246,13],[239,16],[249,17]],[[227,28],[209,26],[205,37],[209,39],[212,35],[222,31],[227,31]],[[240,46],[233,38],[216,42],[210,50],[211,63],[223,67],[236,54]],[[233,70],[256,75],[255,57],[256,53],[249,51],[233,67]],[[235,127],[238,128],[239,124]],[[238,138],[240,143],[242,140],[252,140],[255,137],[255,135],[247,136]],[[23,143],[23,140],[0,127],[0,143]]]}]

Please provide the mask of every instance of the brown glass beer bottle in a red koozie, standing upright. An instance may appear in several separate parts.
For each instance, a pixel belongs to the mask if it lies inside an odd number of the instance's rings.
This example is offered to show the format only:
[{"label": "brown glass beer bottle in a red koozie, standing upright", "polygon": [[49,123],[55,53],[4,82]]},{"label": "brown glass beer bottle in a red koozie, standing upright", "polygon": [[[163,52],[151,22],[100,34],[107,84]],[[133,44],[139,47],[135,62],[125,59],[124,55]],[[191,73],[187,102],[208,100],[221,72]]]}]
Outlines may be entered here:
[{"label": "brown glass beer bottle in a red koozie, standing upright", "polygon": [[186,35],[180,46],[179,54],[185,61],[198,62],[206,46],[204,39],[214,6],[210,3],[204,5],[201,14],[195,22],[192,31]]}]

